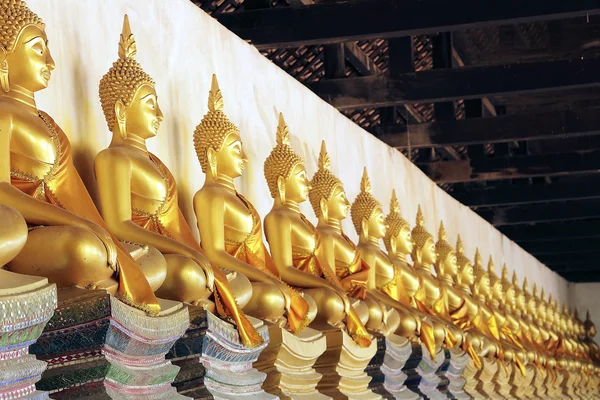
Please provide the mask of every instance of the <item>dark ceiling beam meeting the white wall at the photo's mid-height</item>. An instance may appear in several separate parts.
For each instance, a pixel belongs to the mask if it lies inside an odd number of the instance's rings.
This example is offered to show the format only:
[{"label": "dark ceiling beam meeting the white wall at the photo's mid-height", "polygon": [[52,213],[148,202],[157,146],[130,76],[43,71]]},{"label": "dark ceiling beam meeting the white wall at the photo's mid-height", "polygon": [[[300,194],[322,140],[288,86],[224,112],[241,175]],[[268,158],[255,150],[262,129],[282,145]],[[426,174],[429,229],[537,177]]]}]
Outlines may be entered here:
[{"label": "dark ceiling beam meeting the white wall at the photo's mid-height", "polygon": [[600,218],[600,200],[498,207],[480,210],[478,214],[495,227],[551,221],[574,221]]}]

